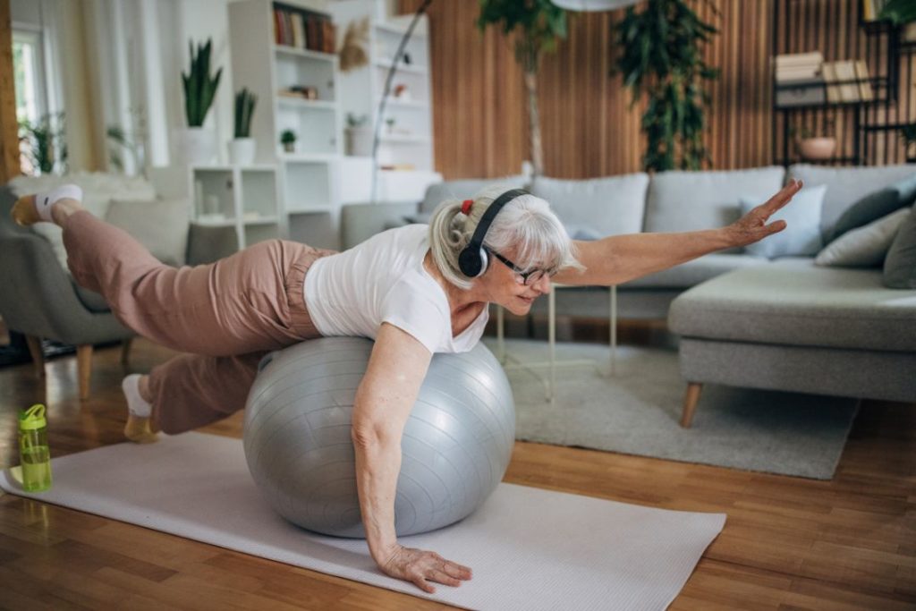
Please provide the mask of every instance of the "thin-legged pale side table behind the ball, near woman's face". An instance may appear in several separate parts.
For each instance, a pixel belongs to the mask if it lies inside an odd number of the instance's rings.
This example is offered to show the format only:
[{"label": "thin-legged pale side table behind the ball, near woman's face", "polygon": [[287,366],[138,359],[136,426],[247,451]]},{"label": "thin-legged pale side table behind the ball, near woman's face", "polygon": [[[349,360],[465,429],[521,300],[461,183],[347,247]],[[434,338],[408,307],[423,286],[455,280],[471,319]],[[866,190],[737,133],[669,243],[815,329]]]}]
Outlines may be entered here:
[{"label": "thin-legged pale side table behind the ball, near woman's face", "polygon": [[[535,369],[540,368],[549,368],[550,375],[547,377],[540,377],[541,382],[544,384],[546,391],[546,398],[550,401],[553,401],[555,397],[555,388],[557,387],[557,367],[558,366],[597,366],[599,373],[602,372],[601,366],[599,366],[594,359],[566,359],[558,361],[556,357],[556,344],[557,344],[557,304],[555,290],[570,289],[573,288],[573,285],[568,284],[553,284],[551,285],[551,292],[548,293],[548,331],[547,331],[547,341],[550,345],[550,357],[547,361],[536,361],[534,363],[521,363],[518,359],[515,359],[506,352],[506,329],[505,329],[505,320],[503,309],[496,308],[496,357],[499,359],[499,362],[507,370],[511,369],[527,369],[531,372],[534,372]],[[611,289],[611,307],[610,307],[610,327],[611,327],[611,345],[610,345],[610,366],[608,368],[608,375],[613,376],[616,373],[616,352],[617,352],[617,287],[612,285]],[[507,365],[507,361],[513,361],[512,364]],[[537,375],[537,374],[535,374]]]}]

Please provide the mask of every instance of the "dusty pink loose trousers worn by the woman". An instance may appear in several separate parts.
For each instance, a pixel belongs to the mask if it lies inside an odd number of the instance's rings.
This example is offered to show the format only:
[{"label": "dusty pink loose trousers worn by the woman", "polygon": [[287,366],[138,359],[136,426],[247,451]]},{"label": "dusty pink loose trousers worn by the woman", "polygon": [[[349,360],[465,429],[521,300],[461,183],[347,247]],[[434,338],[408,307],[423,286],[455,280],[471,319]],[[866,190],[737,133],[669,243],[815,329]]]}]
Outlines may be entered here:
[{"label": "dusty pink loose trousers worn by the woman", "polygon": [[63,243],[73,278],[102,293],[120,322],[192,353],[149,373],[152,418],[169,434],[244,409],[262,356],[319,336],[303,284],[311,264],[333,251],[271,240],[209,265],[169,267],[84,211],[68,217]]}]

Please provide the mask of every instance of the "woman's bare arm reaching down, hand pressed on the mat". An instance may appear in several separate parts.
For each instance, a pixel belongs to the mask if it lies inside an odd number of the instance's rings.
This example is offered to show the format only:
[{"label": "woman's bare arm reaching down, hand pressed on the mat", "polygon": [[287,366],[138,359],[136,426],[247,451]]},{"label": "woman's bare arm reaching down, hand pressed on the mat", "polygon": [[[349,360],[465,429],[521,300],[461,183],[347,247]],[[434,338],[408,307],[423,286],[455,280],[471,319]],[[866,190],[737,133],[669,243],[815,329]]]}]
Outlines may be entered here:
[{"label": "woman's bare arm reaching down, hand pressed on the mat", "polygon": [[352,429],[359,508],[372,558],[384,573],[429,593],[435,592],[430,582],[459,585],[471,578],[470,569],[434,551],[402,547],[395,532],[401,435],[431,358],[419,340],[382,323],[356,391]]}]

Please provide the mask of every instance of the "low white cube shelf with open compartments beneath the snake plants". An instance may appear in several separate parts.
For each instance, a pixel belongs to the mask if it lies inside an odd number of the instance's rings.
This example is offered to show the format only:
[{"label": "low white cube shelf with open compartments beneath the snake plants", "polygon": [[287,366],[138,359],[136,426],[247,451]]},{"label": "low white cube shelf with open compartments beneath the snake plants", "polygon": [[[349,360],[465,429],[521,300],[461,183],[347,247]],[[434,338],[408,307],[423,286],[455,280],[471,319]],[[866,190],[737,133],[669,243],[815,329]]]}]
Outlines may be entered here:
[{"label": "low white cube shelf with open compartments beneath the snake plants", "polygon": [[275,166],[193,166],[190,180],[192,223],[233,228],[239,249],[282,234]]}]

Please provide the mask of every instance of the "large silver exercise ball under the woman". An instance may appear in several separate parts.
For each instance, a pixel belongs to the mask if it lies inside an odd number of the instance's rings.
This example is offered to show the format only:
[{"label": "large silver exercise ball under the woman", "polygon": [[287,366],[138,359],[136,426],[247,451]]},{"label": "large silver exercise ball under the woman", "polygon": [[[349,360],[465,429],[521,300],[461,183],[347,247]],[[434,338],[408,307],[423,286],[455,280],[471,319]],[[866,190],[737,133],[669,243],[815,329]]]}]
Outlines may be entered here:
[{"label": "large silver exercise ball under the woman", "polygon": [[[248,394],[248,469],[271,507],[302,528],[365,537],[350,419],[373,345],[326,337],[272,353]],[[401,440],[398,536],[479,507],[505,475],[514,441],[512,390],[486,346],[434,355]]]}]

